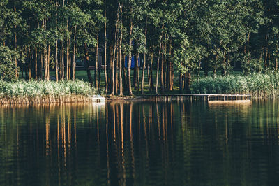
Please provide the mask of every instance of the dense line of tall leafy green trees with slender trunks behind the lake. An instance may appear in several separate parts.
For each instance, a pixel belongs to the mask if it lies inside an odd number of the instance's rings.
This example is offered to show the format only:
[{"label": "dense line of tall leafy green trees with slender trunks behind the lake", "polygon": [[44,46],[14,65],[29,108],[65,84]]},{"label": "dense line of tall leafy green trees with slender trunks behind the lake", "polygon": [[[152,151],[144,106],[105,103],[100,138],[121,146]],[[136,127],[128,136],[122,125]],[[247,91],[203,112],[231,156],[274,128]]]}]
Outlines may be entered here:
[{"label": "dense line of tall leafy green trees with slender trunks behind the lake", "polygon": [[[234,62],[245,73],[278,71],[278,35],[278,0],[1,0],[0,76],[50,80],[55,71],[56,80],[74,80],[78,58],[107,94],[143,93],[144,83],[156,94],[172,90],[174,71],[188,90],[202,68],[206,76],[225,76]],[[139,56],[142,71],[130,68]]]}]

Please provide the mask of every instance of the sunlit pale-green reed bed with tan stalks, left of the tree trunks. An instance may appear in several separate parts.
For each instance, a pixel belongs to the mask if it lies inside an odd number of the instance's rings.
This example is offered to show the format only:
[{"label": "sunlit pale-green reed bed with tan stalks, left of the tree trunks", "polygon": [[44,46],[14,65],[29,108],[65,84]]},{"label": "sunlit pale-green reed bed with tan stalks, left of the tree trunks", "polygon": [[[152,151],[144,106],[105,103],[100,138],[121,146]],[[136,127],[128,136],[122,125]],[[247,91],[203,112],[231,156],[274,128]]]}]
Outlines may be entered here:
[{"label": "sunlit pale-green reed bed with tan stalks, left of the tree trunks", "polygon": [[97,92],[83,80],[75,81],[0,81],[0,103],[66,103],[90,101]]}]

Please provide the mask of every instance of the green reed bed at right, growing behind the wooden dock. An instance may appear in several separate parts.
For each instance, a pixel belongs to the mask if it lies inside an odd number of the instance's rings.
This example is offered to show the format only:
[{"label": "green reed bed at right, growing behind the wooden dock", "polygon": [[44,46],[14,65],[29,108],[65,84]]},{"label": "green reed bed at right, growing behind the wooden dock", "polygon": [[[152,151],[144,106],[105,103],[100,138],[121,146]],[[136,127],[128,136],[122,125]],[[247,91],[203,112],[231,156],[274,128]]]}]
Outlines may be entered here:
[{"label": "green reed bed at right, growing behind the wooden dock", "polygon": [[253,97],[278,96],[279,73],[202,78],[193,82],[191,92],[195,94],[252,94]]}]

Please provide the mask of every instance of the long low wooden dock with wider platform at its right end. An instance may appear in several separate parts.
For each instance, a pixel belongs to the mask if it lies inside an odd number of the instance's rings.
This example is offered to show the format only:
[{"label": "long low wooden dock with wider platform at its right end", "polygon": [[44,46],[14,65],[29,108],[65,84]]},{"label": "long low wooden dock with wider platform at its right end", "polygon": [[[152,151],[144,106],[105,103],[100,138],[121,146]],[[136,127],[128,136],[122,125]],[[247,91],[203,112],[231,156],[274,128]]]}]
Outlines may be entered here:
[{"label": "long low wooden dock with wider platform at its right end", "polygon": [[[147,95],[146,95],[147,96]],[[252,99],[251,94],[161,94],[161,95],[149,95],[152,100],[181,100],[189,99],[202,100],[202,101],[250,101]]]}]

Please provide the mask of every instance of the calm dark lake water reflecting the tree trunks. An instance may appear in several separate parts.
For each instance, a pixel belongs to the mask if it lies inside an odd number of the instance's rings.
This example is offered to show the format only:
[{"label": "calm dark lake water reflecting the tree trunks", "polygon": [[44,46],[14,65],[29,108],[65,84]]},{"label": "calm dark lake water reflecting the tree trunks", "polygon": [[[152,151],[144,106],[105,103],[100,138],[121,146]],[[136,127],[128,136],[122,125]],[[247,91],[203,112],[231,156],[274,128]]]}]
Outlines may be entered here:
[{"label": "calm dark lake water reflecting the tree trunks", "polygon": [[278,185],[279,101],[0,107],[0,185]]}]

